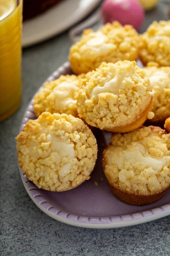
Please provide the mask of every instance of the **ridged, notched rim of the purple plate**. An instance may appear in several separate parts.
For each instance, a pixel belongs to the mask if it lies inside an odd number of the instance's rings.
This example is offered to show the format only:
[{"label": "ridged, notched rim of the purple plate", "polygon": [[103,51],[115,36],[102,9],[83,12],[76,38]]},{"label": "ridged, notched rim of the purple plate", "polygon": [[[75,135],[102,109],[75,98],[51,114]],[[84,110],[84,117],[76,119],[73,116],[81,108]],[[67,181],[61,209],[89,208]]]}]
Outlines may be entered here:
[{"label": "ridged, notched rim of the purple plate", "polygon": [[[54,71],[48,79],[45,80],[51,81],[57,79],[62,74],[68,73],[70,70],[69,62],[65,62],[62,66],[60,66],[56,71]],[[45,82],[42,86],[37,90],[37,92],[43,87]],[[36,93],[37,93],[36,92]],[[35,93],[35,94],[36,94]],[[30,116],[34,114],[33,108],[34,96],[32,97],[30,103],[28,104],[26,111],[23,115],[23,119],[20,126],[20,131],[25,126],[26,122],[30,119]],[[69,224],[76,227],[84,227],[84,228],[95,228],[95,229],[110,229],[110,228],[119,228],[119,227],[128,227],[134,226],[137,224],[142,224],[146,222],[150,222],[159,218],[166,217],[170,215],[170,203],[165,204],[161,207],[156,207],[146,211],[139,211],[133,214],[127,214],[122,216],[113,216],[113,217],[88,217],[88,216],[78,216],[74,214],[69,214],[68,212],[63,212],[61,209],[57,209],[49,204],[42,195],[37,195],[34,198],[34,192],[31,190],[39,190],[34,183],[32,183],[28,178],[23,174],[22,170],[19,167],[20,176],[23,182],[23,185],[26,189],[26,192],[32,199],[32,201],[39,207],[45,214],[54,218],[57,221],[60,221],[65,224]],[[39,193],[40,194],[40,193]],[[41,196],[41,199],[36,199]],[[43,200],[44,199],[44,200]],[[60,216],[59,216],[60,214]]]}]

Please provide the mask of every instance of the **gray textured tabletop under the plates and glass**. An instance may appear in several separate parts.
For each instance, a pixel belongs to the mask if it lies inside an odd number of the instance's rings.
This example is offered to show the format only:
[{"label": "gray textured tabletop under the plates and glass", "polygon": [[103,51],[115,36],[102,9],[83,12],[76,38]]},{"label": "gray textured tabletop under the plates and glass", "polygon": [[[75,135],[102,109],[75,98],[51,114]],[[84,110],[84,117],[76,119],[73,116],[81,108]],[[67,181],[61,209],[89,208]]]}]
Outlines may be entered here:
[{"label": "gray textured tabletop under the plates and glass", "polygon": [[[147,14],[167,19],[163,5]],[[141,31],[142,31],[141,30]],[[20,179],[15,136],[23,113],[42,82],[67,60],[67,33],[23,51],[23,103],[0,123],[1,256],[153,256],[170,255],[170,216],[116,230],[88,230],[59,223],[31,201]]]}]

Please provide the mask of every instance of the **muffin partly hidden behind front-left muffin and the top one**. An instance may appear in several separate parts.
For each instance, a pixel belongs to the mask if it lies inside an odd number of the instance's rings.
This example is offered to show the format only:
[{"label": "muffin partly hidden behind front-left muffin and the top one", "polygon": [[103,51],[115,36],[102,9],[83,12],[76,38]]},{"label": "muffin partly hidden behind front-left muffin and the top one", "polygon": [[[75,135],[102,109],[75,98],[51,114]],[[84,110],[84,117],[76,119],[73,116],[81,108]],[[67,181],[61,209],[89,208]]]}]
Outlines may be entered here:
[{"label": "muffin partly hidden behind front-left muffin and the top one", "polygon": [[35,115],[38,117],[42,112],[48,111],[52,114],[66,113],[77,117],[75,95],[81,85],[80,77],[74,75],[60,76],[54,81],[45,83],[44,88],[34,97]]}]

